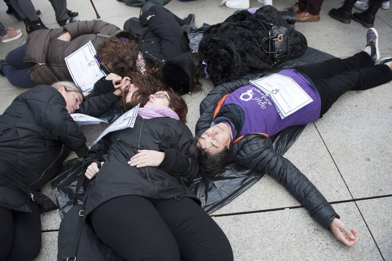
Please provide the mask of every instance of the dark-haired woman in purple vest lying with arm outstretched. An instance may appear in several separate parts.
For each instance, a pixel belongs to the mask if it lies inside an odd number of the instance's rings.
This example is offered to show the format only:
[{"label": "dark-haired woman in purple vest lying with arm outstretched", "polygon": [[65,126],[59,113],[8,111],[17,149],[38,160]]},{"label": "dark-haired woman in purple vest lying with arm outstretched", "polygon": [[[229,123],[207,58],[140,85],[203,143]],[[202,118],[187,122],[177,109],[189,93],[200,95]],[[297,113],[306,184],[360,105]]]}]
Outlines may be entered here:
[{"label": "dark-haired woman in purple vest lying with arm outstretched", "polygon": [[347,91],[366,90],[392,80],[392,58],[374,65],[378,58],[377,32],[371,28],[365,50],[352,57],[334,58],[278,72],[292,78],[313,100],[283,120],[273,101],[252,85],[240,87],[225,96],[222,94],[211,120],[204,117],[196,125],[196,132],[206,130],[191,141],[189,155],[199,159],[205,174],[218,172],[229,161],[270,174],[307,208],[318,223],[324,228],[329,227],[338,240],[348,246],[355,244],[358,232],[348,230],[309,179],[273,149],[269,136],[289,126],[318,120]]}]

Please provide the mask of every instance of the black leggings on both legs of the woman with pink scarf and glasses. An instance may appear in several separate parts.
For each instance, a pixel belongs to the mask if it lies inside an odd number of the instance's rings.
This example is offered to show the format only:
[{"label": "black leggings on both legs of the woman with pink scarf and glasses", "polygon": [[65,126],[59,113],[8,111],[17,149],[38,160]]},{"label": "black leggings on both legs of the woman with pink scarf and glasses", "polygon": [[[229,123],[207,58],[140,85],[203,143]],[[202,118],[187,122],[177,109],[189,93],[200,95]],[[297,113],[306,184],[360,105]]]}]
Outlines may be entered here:
[{"label": "black leggings on both legs of the woman with pink scarf and glasses", "polygon": [[233,260],[221,228],[191,198],[121,196],[90,217],[97,236],[127,260]]}]

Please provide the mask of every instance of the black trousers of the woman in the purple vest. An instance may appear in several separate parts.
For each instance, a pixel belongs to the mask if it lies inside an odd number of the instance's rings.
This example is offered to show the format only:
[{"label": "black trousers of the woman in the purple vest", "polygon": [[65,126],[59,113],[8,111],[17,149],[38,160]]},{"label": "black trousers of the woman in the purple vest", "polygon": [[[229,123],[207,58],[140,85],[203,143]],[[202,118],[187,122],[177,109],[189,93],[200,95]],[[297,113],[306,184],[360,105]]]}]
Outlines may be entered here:
[{"label": "black trousers of the woman in the purple vest", "polygon": [[320,118],[345,92],[367,90],[392,80],[392,70],[387,65],[374,65],[366,52],[292,69],[306,74],[316,86],[321,98]]}]

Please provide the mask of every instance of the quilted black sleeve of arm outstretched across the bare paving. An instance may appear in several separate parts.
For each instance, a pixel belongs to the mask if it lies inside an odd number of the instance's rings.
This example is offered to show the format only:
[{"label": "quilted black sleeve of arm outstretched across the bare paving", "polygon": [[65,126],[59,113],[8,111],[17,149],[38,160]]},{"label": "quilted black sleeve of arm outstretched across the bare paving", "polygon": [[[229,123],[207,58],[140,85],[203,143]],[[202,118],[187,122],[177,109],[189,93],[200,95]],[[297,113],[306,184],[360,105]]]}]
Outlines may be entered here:
[{"label": "quilted black sleeve of arm outstretched across the bare paving", "polygon": [[230,159],[241,166],[270,174],[324,228],[329,227],[334,217],[339,218],[313,183],[294,164],[273,149],[270,138],[258,134],[246,135],[234,144]]}]

